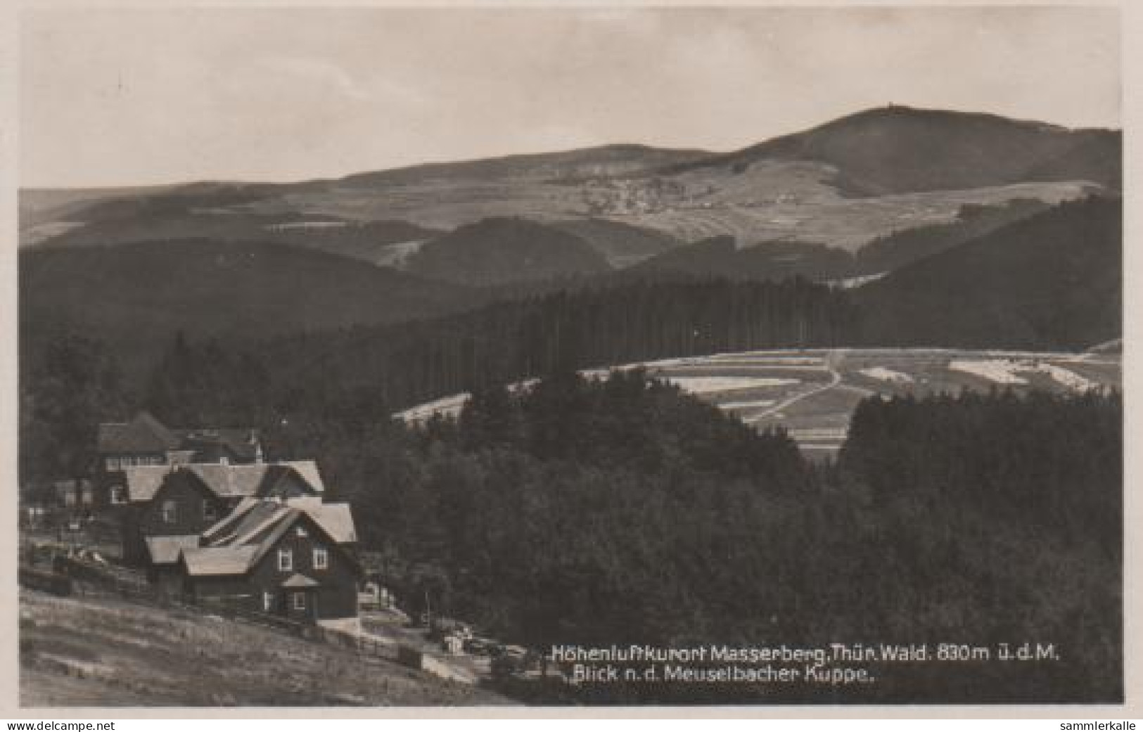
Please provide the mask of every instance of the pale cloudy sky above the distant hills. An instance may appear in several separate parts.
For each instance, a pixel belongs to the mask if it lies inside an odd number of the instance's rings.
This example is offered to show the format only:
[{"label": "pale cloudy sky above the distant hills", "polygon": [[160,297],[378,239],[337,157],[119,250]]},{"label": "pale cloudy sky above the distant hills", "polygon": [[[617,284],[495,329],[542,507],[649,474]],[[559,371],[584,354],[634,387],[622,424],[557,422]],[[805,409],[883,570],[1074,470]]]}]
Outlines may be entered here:
[{"label": "pale cloudy sky above the distant hills", "polygon": [[25,187],[729,151],[888,103],[1120,127],[1113,8],[37,9]]}]

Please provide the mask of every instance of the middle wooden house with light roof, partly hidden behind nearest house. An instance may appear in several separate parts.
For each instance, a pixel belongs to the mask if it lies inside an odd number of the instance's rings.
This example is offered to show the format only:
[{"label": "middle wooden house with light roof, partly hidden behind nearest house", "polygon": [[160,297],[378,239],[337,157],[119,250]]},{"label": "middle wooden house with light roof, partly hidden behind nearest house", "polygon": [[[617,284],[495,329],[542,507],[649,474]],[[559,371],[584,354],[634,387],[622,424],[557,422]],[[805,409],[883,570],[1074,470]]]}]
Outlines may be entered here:
[{"label": "middle wooden house with light roof, partly hidden behind nearest house", "polygon": [[231,513],[243,499],[288,499],[325,493],[312,460],[230,465],[189,462],[120,469],[122,558],[161,573],[173,570],[183,547]]}]

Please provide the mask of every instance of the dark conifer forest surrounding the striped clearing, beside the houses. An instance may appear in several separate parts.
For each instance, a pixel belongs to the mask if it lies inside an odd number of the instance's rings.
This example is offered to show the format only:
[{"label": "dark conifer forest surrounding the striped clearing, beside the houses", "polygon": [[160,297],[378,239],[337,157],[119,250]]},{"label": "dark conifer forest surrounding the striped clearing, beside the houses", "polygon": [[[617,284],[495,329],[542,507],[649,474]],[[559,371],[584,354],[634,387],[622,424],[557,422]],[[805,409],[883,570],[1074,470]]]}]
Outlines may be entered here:
[{"label": "dark conifer forest surrounding the striped clearing, beside the houses", "polygon": [[[427,600],[531,649],[1039,642],[1061,653],[874,668],[878,684],[841,690],[618,684],[539,701],[1117,701],[1118,393],[874,396],[837,462],[810,464],[781,431],[758,433],[641,370],[576,371],[918,345],[918,332],[1084,348],[1119,331],[1118,206],[1015,222],[989,234],[996,247],[946,249],[940,267],[925,259],[856,295],[802,279],[602,280],[415,322],[240,343],[171,332],[142,378],[97,333],[25,329],[21,478],[82,474],[95,426],[137,409],[168,425],[253,426],[271,458],[317,458],[333,498],[352,501],[368,566],[409,612]],[[1046,282],[1009,276],[985,306],[953,307],[926,284],[953,272],[972,291],[958,263],[1020,274],[1028,251],[1058,254],[1065,236],[1089,246],[1039,268]],[[1041,317],[1069,271],[1098,291],[1068,298],[1066,322]],[[951,324],[927,330],[925,317]],[[459,392],[472,397],[455,420],[391,418]]]}]

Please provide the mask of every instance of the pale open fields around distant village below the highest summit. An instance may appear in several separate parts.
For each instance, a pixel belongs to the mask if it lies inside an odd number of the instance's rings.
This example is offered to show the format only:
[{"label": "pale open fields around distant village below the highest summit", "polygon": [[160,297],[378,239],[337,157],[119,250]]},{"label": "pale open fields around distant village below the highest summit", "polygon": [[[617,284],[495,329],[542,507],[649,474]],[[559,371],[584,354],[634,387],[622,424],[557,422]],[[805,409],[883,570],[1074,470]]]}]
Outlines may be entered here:
[{"label": "pale open fields around distant village below the highest summit", "polygon": [[895,231],[951,222],[966,203],[999,204],[1014,199],[1058,203],[1096,187],[1073,182],[1023,183],[852,199],[829,183],[834,172],[822,163],[769,161],[741,174],[713,168],[665,178],[430,179],[379,190],[342,184],[258,201],[249,210],[401,219],[435,228],[455,228],[490,216],[539,222],[594,216],[682,241],[729,234],[742,244],[782,239],[856,249]]}]

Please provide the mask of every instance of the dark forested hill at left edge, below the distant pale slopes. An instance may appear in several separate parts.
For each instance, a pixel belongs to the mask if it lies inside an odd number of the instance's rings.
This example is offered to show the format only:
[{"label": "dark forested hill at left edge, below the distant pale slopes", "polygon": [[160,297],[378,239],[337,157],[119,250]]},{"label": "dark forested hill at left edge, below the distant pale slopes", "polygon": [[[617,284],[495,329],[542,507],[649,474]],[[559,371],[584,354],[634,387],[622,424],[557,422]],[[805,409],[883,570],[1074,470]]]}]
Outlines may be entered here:
[{"label": "dark forested hill at left edge, below the distant pale slopes", "polygon": [[153,368],[179,330],[241,349],[285,333],[440,315],[474,299],[461,285],[279,243],[185,240],[19,252],[23,347],[71,331],[103,341],[133,377]]}]

